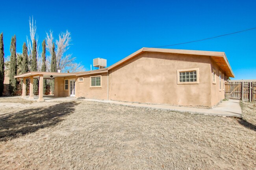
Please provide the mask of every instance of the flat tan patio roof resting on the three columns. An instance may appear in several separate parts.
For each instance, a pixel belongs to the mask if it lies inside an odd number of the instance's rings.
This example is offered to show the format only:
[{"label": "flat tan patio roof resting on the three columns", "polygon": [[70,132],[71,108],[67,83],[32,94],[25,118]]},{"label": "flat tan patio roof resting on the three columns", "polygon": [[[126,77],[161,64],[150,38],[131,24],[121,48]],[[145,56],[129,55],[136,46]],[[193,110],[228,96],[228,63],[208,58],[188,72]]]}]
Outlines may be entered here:
[{"label": "flat tan patio roof resting on the three columns", "polygon": [[76,75],[74,73],[55,73],[55,72],[39,72],[39,71],[31,71],[28,73],[24,73],[21,75],[14,76],[14,78],[29,78],[33,76],[35,79],[39,78],[39,75],[43,75],[44,79],[54,79],[54,77],[65,77]]}]

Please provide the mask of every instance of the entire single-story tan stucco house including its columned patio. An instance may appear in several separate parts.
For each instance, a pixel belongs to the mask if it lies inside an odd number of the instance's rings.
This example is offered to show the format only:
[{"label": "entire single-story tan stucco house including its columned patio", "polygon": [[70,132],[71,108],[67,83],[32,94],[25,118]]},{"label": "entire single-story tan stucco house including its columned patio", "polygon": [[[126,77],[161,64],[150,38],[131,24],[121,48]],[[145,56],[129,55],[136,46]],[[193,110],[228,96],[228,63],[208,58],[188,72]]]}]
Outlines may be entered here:
[{"label": "entire single-story tan stucco house including its columned patio", "polygon": [[56,97],[208,108],[224,99],[228,77],[234,73],[224,52],[159,48],[139,49],[112,66],[93,71],[15,76],[30,79],[30,91],[33,78],[39,78],[38,101],[43,101],[43,79],[55,79]]}]

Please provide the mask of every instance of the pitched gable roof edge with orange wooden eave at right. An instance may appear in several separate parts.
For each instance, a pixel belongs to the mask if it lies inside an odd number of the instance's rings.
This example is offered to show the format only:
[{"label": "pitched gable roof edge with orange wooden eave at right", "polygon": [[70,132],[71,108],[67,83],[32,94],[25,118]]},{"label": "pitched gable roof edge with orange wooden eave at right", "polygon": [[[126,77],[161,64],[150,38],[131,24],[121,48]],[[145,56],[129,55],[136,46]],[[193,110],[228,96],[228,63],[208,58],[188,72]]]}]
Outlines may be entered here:
[{"label": "pitched gable roof edge with orange wooden eave at right", "polygon": [[115,64],[108,67],[108,69],[113,69],[120,64],[144,53],[145,51],[148,52],[160,52],[160,53],[176,53],[176,54],[187,54],[187,55],[203,55],[203,56],[210,56],[217,65],[226,73],[228,77],[235,77],[230,64],[228,62],[228,58],[224,52],[216,52],[216,51],[197,51],[197,50],[184,50],[184,49],[164,49],[164,48],[141,48],[138,51],[132,53],[131,55],[125,57],[124,59],[116,62]]}]

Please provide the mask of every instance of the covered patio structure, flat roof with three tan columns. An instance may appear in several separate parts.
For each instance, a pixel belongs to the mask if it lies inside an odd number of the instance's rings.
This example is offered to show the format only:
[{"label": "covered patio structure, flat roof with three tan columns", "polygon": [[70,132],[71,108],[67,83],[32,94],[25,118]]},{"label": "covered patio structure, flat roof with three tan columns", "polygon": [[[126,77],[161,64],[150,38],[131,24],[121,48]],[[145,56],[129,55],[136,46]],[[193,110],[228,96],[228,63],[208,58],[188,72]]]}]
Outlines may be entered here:
[{"label": "covered patio structure, flat roof with three tan columns", "polygon": [[43,98],[43,79],[55,79],[55,77],[65,77],[65,76],[73,76],[74,73],[56,73],[56,72],[39,72],[32,71],[28,73],[24,73],[21,75],[17,75],[14,78],[23,79],[22,84],[22,98],[26,98],[26,79],[30,80],[30,95],[28,99],[34,99],[33,95],[33,82],[34,79],[39,79],[39,95],[38,102],[43,102],[45,99]]}]

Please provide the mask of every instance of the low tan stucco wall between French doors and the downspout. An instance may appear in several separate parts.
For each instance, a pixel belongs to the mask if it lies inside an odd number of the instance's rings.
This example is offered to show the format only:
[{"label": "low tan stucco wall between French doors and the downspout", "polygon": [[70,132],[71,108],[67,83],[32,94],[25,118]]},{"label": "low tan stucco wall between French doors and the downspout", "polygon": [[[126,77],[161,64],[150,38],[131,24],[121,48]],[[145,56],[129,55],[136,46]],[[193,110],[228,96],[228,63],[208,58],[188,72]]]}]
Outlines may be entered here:
[{"label": "low tan stucco wall between French doors and the downspout", "polygon": [[[101,75],[101,88],[90,88],[90,76]],[[78,76],[76,80],[76,97],[85,97],[86,99],[108,100],[108,74],[100,73],[93,75]],[[83,77],[83,82],[78,82],[78,78]]]}]

